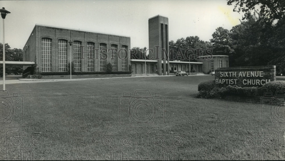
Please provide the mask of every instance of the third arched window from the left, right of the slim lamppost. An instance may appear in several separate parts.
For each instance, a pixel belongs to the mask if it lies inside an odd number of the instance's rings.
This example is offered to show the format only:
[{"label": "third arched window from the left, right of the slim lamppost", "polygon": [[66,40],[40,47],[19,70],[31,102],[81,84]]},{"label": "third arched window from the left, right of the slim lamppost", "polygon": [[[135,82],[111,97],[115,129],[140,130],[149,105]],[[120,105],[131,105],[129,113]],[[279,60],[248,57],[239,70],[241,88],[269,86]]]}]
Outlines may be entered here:
[{"label": "third arched window from the left, right of the slim lamppost", "polygon": [[73,43],[73,61],[74,61],[74,72],[81,71],[81,42],[74,41]]}]

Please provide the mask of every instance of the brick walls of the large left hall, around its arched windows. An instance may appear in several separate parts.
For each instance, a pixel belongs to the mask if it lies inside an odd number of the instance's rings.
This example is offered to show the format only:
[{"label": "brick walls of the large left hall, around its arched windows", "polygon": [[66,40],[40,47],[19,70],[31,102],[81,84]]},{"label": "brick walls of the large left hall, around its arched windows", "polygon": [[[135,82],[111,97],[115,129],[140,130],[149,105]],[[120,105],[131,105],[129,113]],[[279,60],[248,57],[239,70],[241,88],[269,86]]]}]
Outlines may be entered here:
[{"label": "brick walls of the large left hall, around its arched windows", "polygon": [[[95,44],[95,49],[99,48],[100,43],[107,44],[107,49],[111,47],[111,44],[116,44],[118,46],[118,50],[124,45],[130,48],[131,38],[126,36],[119,35],[111,35],[111,34],[103,34],[103,33],[95,33],[81,30],[73,30],[68,28],[57,28],[57,27],[49,27],[42,25],[35,25],[34,30],[32,31],[31,36],[28,38],[25,47],[23,48],[25,54],[25,50],[27,50],[28,46],[30,46],[30,52],[24,56],[25,61],[35,61],[39,67],[41,72],[41,40],[42,38],[50,38],[52,39],[52,72],[58,72],[58,40],[64,39],[67,42],[70,40],[80,41],[82,43],[82,51],[83,55],[81,60],[81,71],[87,71],[87,42],[93,42]],[[72,60],[73,61],[73,45],[70,48],[70,45],[67,45],[67,62],[70,62],[70,50],[72,52]],[[27,52],[26,52],[27,53]],[[107,53],[108,59],[106,60],[106,64],[110,62],[111,51]],[[98,54],[94,52],[94,54]],[[130,57],[130,53],[128,50],[128,56]],[[95,56],[94,56],[95,57]],[[128,58],[129,58],[128,57]],[[96,58],[96,57],[95,57]],[[99,58],[97,56],[97,58]],[[129,60],[127,61],[128,65],[130,64]],[[121,60],[117,59],[117,71],[121,71]],[[127,70],[129,68],[127,67]],[[94,71],[99,71],[99,59],[94,60]]]}]

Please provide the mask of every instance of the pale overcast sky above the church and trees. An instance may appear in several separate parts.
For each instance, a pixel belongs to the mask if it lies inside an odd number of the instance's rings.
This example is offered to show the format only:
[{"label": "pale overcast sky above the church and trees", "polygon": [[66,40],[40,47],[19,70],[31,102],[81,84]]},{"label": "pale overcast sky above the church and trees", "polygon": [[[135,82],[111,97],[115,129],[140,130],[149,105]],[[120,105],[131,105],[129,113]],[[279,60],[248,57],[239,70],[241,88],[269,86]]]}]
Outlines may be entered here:
[{"label": "pale overcast sky above the church and trees", "polygon": [[[5,43],[23,49],[35,24],[131,37],[131,47],[148,47],[148,18],[169,20],[169,40],[199,36],[209,41],[217,27],[231,29],[242,15],[226,0],[189,1],[0,1],[11,13],[5,19]],[[3,21],[0,21],[3,43]]]}]

